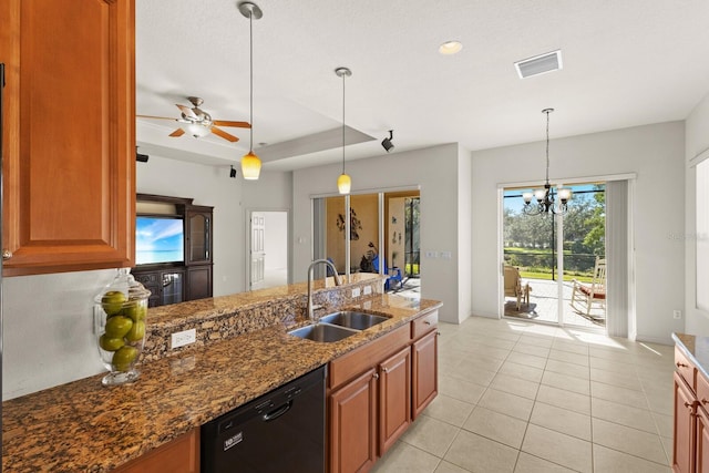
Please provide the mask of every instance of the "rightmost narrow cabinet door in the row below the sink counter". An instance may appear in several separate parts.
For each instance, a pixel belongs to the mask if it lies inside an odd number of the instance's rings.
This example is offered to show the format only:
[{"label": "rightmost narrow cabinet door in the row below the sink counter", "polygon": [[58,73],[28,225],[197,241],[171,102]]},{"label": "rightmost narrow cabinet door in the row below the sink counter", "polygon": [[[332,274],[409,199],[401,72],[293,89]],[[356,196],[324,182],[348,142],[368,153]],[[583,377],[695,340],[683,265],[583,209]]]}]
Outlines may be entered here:
[{"label": "rightmost narrow cabinet door in the row below the sink counter", "polygon": [[439,393],[438,332],[434,330],[415,341],[413,353],[413,419]]}]

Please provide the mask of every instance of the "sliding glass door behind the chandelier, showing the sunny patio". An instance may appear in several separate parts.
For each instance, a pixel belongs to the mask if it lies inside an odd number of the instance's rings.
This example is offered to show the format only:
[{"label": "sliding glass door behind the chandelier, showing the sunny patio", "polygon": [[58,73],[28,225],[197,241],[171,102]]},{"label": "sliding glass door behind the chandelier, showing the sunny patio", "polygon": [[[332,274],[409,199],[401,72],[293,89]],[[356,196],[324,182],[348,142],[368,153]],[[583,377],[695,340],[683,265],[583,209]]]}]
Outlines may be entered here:
[{"label": "sliding glass door behind the chandelier, showing the sunny patio", "polygon": [[504,189],[502,313],[605,330],[606,184],[571,189],[564,215],[525,215],[526,188]]}]

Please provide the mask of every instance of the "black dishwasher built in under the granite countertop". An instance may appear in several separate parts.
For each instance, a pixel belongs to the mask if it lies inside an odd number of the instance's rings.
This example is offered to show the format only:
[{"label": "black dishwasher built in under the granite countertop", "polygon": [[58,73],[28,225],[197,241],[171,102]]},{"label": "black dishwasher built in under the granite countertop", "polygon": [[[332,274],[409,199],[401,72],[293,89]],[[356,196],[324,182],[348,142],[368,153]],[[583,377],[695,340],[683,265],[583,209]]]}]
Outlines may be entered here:
[{"label": "black dishwasher built in under the granite countertop", "polygon": [[318,368],[202,425],[202,472],[325,472],[325,376]]}]

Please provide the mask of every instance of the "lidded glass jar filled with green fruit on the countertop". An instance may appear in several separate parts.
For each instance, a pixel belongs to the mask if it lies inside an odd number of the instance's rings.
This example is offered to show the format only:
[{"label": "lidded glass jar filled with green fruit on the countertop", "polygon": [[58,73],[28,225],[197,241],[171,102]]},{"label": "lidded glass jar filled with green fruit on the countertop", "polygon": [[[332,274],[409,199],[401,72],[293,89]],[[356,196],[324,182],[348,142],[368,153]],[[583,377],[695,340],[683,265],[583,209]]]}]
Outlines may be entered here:
[{"label": "lidded glass jar filled with green fruit on the countertop", "polygon": [[94,298],[99,354],[110,371],[103,385],[135,381],[135,363],[145,342],[147,298],[151,291],[137,282],[129,268],[120,268],[113,281]]}]

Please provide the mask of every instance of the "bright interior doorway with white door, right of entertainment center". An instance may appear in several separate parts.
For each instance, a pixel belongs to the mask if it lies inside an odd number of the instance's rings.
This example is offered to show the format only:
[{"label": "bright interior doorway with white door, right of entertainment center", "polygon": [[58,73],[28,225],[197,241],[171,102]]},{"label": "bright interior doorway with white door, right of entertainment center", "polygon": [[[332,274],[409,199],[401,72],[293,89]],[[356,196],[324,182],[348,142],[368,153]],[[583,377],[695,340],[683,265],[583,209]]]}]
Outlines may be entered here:
[{"label": "bright interior doorway with white door, right of entertainment center", "polygon": [[249,290],[288,284],[288,212],[251,210],[249,226]]}]

